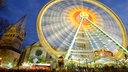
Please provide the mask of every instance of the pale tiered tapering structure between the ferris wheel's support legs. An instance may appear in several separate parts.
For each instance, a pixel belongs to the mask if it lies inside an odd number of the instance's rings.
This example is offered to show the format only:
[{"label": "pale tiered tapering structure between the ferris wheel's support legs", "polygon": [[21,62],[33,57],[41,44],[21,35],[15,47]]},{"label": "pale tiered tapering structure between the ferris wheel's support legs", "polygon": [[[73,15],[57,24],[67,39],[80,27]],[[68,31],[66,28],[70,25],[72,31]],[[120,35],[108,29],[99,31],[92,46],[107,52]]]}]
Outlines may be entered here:
[{"label": "pale tiered tapering structure between the ferris wheel's support legs", "polygon": [[[85,59],[93,60],[93,51],[90,49],[90,42],[86,32],[81,28],[75,39],[75,46],[71,50],[71,58],[73,60],[84,61]],[[76,57],[77,58],[74,58]]]}]

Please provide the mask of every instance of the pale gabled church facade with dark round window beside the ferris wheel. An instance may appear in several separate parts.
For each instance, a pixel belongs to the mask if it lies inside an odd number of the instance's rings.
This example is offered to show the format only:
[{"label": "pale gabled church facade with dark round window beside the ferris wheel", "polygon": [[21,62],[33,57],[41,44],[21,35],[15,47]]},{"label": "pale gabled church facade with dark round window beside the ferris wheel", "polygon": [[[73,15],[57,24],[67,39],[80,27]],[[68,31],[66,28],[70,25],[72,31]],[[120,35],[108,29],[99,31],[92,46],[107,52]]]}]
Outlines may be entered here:
[{"label": "pale gabled church facade with dark round window beside the ferris wheel", "polygon": [[35,42],[30,46],[26,46],[21,53],[18,65],[21,66],[24,63],[48,63],[52,68],[57,67],[57,60],[53,59],[48,52],[45,51],[44,46],[40,42]]}]

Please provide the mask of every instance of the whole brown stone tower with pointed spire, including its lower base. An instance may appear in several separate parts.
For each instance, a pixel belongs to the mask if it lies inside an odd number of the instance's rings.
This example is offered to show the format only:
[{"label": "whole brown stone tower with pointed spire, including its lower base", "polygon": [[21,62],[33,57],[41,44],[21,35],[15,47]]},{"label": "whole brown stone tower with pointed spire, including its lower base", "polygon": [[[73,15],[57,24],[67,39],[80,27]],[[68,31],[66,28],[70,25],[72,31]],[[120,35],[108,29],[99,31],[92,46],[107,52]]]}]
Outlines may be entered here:
[{"label": "whole brown stone tower with pointed spire, including its lower base", "polygon": [[3,34],[0,40],[0,57],[3,64],[17,64],[20,57],[19,49],[26,36],[25,21],[26,16],[23,16],[14,25],[10,25]]}]

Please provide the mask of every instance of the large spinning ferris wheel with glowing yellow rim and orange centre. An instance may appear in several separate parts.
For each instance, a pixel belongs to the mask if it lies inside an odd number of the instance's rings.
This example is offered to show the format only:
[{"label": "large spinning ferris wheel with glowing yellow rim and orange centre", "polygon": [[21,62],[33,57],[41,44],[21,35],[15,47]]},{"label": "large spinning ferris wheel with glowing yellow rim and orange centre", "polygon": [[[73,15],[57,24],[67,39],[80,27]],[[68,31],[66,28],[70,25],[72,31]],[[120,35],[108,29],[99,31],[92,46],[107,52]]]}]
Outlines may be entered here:
[{"label": "large spinning ferris wheel with glowing yellow rim and orange centre", "polygon": [[122,21],[96,0],[51,0],[39,13],[37,32],[54,58],[84,59],[100,48],[116,58],[128,54]]}]

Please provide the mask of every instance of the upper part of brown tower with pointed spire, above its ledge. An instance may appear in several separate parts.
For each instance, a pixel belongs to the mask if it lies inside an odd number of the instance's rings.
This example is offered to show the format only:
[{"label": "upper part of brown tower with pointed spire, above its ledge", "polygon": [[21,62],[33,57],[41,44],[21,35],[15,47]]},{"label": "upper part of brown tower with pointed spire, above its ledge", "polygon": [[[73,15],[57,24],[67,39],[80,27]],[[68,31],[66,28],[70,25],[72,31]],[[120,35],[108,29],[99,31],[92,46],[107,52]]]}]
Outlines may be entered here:
[{"label": "upper part of brown tower with pointed spire, above its ledge", "polygon": [[13,49],[15,51],[19,50],[26,36],[25,19],[26,16],[7,28],[0,40],[0,48]]}]

